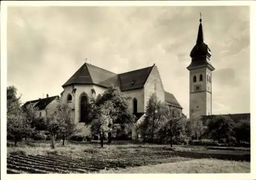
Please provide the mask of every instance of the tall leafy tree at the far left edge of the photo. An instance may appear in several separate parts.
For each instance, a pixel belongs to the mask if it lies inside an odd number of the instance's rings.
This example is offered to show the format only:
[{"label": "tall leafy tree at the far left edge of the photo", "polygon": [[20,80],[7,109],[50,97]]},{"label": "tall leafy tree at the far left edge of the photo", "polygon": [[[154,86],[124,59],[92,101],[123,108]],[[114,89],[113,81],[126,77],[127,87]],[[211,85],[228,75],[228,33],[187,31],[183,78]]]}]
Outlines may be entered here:
[{"label": "tall leafy tree at the far left edge of the photo", "polygon": [[[13,137],[15,146],[22,138],[27,138],[33,131],[28,114],[20,106],[20,97],[17,97],[17,88],[15,86],[7,87],[7,136]],[[32,106],[28,111],[33,111]]]}]

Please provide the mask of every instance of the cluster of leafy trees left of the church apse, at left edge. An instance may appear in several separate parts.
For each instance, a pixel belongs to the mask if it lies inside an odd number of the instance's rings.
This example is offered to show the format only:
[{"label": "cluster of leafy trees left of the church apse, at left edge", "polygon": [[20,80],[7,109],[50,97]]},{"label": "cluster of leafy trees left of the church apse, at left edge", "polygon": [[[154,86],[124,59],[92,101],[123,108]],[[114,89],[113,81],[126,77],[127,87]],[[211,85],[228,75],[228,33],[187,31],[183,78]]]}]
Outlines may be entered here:
[{"label": "cluster of leafy trees left of the church apse, at left edge", "polygon": [[[59,105],[51,117],[46,120],[37,118],[38,109],[33,105],[21,106],[20,97],[17,97],[15,86],[7,87],[7,139],[17,142],[23,139],[51,139],[51,146],[54,148],[55,139],[64,142],[72,134],[79,132],[76,124],[71,119],[71,108],[67,104]],[[46,130],[50,136],[41,134],[39,130]]]}]

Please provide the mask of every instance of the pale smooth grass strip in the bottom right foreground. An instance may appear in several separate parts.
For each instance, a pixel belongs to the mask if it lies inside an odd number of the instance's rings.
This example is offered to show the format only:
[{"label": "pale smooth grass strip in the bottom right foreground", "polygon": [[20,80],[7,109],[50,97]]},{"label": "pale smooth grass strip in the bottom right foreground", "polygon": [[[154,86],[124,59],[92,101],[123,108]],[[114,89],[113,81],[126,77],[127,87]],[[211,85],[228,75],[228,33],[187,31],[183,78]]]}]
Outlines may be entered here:
[{"label": "pale smooth grass strip in the bottom right foreground", "polygon": [[250,173],[250,163],[200,159],[117,170],[101,170],[98,173]]}]

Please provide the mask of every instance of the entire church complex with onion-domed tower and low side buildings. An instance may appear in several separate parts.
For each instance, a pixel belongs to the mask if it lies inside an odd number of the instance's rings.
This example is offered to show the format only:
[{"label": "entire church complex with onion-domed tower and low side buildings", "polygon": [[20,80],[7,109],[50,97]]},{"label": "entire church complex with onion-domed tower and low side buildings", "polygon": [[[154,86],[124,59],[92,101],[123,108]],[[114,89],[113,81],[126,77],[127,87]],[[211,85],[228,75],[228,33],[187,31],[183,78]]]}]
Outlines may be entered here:
[{"label": "entire church complex with onion-domed tower and low side buildings", "polygon": [[[210,62],[211,51],[204,42],[201,18],[196,44],[190,52],[190,57],[191,62],[187,66],[189,71],[189,118],[202,117],[203,120],[206,120],[219,116],[212,115],[212,72],[215,68]],[[164,85],[155,64],[147,68],[116,74],[86,62],[62,85],[63,92],[60,100],[58,96],[54,96],[29,101],[26,104],[43,104],[39,110],[44,111],[47,106],[53,107],[51,104],[56,104],[55,100],[60,104],[68,103],[72,108],[72,119],[82,129],[81,133],[89,135],[91,134],[90,127],[84,126],[83,123],[86,119],[87,105],[99,94],[103,94],[111,85],[118,86],[125,96],[132,98],[129,110],[137,117],[137,123],[143,120],[147,101],[153,93],[156,93],[160,101],[176,108],[180,116],[184,116],[183,108],[175,96],[164,91]],[[224,116],[229,116],[236,122],[241,119],[250,119],[250,114]],[[134,130],[132,134],[132,136],[136,136]]]}]

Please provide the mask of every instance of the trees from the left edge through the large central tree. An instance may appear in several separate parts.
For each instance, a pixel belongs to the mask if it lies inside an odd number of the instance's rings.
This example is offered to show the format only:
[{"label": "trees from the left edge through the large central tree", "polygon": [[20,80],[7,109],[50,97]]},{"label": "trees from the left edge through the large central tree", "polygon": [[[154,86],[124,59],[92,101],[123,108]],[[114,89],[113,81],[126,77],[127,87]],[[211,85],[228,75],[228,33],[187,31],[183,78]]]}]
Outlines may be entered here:
[{"label": "trees from the left edge through the large central tree", "polygon": [[[113,132],[128,137],[135,121],[135,116],[128,110],[130,97],[124,96],[115,86],[109,87],[102,95],[92,99],[88,104],[85,125],[91,125],[92,137],[99,137],[101,147],[103,140],[111,143]],[[56,139],[61,139],[63,145],[68,139],[87,139],[77,133],[80,129],[71,117],[72,109],[67,104],[59,105],[54,113],[46,120],[37,118],[37,111],[32,105],[22,107],[20,97],[17,97],[17,88],[7,87],[7,139],[14,140],[15,145],[22,139],[39,140],[51,139],[51,147],[54,148]],[[41,130],[48,132],[42,134]]]}]

